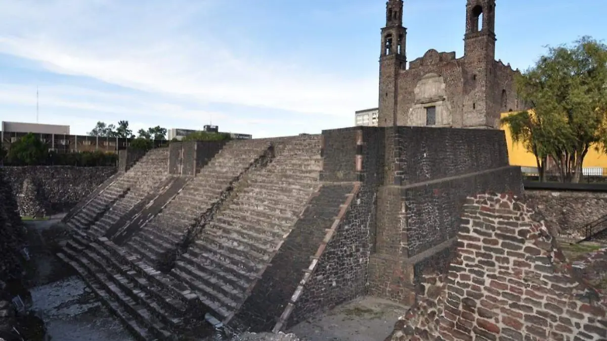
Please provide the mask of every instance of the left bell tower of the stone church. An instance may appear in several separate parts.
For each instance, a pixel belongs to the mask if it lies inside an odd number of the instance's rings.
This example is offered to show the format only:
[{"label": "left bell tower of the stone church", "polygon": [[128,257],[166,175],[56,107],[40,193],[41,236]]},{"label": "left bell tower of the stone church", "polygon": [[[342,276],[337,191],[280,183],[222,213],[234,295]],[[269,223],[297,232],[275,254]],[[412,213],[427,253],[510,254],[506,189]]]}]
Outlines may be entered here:
[{"label": "left bell tower of the stone church", "polygon": [[406,69],[407,29],[402,26],[402,0],[388,0],[385,27],[381,29],[379,55],[379,115],[381,127],[396,126],[398,117],[398,75]]}]

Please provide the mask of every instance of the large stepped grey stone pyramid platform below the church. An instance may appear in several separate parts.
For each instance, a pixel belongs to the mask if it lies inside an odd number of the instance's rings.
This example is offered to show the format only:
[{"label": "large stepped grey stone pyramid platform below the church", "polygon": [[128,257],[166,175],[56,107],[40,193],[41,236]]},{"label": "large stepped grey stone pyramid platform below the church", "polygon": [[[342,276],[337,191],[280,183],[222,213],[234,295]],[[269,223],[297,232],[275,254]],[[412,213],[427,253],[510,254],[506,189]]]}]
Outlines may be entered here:
[{"label": "large stepped grey stone pyramid platform below the church", "polygon": [[143,340],[285,330],[359,295],[412,303],[460,201],[522,190],[506,150],[501,131],[424,127],[172,143],[67,215],[59,257]]}]

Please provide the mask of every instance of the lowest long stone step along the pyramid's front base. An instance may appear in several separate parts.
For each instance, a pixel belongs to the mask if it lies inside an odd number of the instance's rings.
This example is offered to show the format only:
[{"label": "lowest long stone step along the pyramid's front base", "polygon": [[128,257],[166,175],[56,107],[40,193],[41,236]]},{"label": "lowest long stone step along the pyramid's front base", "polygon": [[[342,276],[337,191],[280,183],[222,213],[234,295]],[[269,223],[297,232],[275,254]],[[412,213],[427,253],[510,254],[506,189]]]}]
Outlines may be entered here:
[{"label": "lowest long stone step along the pyramid's front base", "polygon": [[106,290],[97,282],[97,280],[93,280],[92,277],[88,274],[88,272],[84,269],[83,266],[80,266],[73,260],[70,260],[64,254],[57,254],[58,257],[63,260],[63,262],[72,266],[73,269],[78,272],[78,274],[85,279],[85,282],[95,292],[97,297],[100,297],[101,302],[110,310],[112,313],[118,317],[120,322],[123,323],[124,326],[129,330],[130,333],[134,334],[135,337],[139,341],[148,341],[156,339],[156,336],[149,331],[148,327],[143,325],[143,323],[138,322],[135,317],[131,315],[126,309],[124,309],[121,305],[115,302],[112,297],[106,292]]}]

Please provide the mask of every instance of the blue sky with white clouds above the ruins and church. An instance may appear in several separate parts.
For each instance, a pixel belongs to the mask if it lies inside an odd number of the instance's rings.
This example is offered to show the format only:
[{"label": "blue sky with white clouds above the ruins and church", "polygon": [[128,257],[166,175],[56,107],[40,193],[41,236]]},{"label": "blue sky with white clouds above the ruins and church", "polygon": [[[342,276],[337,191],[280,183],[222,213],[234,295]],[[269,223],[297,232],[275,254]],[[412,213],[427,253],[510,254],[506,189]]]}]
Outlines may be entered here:
[{"label": "blue sky with white clouds above the ruins and church", "polygon": [[[407,57],[463,53],[464,0],[405,0]],[[607,1],[497,2],[496,58],[607,38]],[[220,130],[353,125],[377,106],[385,0],[0,0],[0,120]]]}]

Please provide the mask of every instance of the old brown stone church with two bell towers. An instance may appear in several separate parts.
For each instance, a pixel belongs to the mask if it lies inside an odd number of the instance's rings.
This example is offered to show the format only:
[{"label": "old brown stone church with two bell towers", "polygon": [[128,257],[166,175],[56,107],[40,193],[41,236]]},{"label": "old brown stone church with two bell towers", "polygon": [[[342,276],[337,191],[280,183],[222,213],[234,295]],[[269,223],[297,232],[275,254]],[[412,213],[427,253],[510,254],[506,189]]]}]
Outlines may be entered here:
[{"label": "old brown stone church with two bell towers", "polygon": [[467,0],[464,56],[428,50],[409,62],[402,0],[388,0],[379,59],[379,126],[498,128],[524,109],[515,71],[495,61],[495,0]]}]

